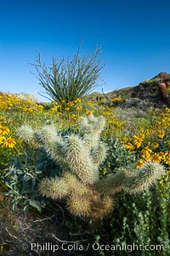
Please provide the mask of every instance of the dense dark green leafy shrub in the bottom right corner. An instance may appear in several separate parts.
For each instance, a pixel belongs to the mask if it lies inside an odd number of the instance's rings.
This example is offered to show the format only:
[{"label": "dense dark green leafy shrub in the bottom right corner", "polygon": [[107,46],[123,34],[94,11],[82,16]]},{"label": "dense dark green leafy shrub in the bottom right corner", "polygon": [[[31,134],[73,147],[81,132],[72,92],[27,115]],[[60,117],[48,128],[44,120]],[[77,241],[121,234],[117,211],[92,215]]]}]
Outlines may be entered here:
[{"label": "dense dark green leafy shrub in the bottom right corner", "polygon": [[[124,193],[119,194],[113,212],[109,218],[104,219],[102,227],[100,226],[105,240],[114,245],[122,245],[122,243],[129,245],[134,243],[143,247],[161,245],[161,251],[134,250],[132,253],[141,256],[168,255],[170,249],[169,189],[169,180],[167,180],[164,188],[157,183],[155,187],[151,190],[146,189],[141,195],[132,197]],[[163,190],[166,190],[164,195],[162,195]],[[108,253],[108,255],[110,254]],[[125,251],[116,251],[112,255],[128,254]]]}]

